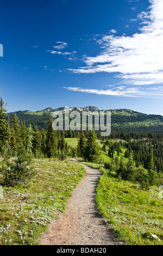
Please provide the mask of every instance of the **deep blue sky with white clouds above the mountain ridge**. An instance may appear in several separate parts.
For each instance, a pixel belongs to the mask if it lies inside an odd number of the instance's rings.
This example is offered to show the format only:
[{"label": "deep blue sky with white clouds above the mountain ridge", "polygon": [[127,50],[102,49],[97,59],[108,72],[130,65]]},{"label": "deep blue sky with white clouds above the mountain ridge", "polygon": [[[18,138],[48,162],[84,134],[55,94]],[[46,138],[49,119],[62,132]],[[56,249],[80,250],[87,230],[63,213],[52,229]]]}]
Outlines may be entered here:
[{"label": "deep blue sky with white clouds above the mountain ridge", "polygon": [[162,0],[1,0],[8,112],[97,106],[163,115],[162,13]]}]

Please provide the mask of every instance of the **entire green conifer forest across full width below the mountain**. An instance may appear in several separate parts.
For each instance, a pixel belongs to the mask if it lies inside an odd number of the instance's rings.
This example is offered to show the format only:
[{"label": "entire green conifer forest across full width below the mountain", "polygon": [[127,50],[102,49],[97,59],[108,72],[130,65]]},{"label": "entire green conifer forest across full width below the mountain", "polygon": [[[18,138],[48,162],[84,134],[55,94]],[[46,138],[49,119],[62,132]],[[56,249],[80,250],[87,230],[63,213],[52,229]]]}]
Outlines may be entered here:
[{"label": "entire green conifer forest across full width below the mountain", "polygon": [[[105,138],[94,130],[54,131],[51,116],[48,116],[47,128],[40,130],[36,124],[27,125],[25,121],[20,123],[16,113],[10,120],[6,112],[1,96],[0,155],[6,159],[2,169],[7,170],[5,179],[8,179],[8,182],[17,170],[22,173],[23,182],[26,182],[25,162],[29,163],[32,156],[58,157],[63,160],[69,155],[82,157],[89,162],[101,162],[101,149],[97,139],[103,144],[102,150],[111,159],[105,163],[105,168],[113,170],[118,178],[137,181],[142,187],[159,185],[162,181],[163,134],[161,132],[111,132],[111,135]],[[78,138],[78,147],[71,148],[65,138],[74,137]],[[124,157],[121,157],[124,149]],[[12,168],[8,161],[11,156],[17,157]],[[32,173],[30,170],[28,176]],[[16,179],[18,181],[20,177]],[[11,184],[14,184],[13,180]]]}]

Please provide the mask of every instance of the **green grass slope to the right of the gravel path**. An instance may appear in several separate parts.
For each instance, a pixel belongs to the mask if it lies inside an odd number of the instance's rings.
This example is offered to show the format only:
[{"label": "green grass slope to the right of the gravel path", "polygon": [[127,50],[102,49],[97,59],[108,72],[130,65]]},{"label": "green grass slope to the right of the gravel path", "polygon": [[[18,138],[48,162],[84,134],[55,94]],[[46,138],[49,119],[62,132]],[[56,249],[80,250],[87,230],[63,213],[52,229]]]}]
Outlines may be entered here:
[{"label": "green grass slope to the right of the gravel path", "polygon": [[142,191],[138,185],[103,174],[98,181],[96,202],[121,241],[128,245],[163,245],[163,202],[158,189]]}]

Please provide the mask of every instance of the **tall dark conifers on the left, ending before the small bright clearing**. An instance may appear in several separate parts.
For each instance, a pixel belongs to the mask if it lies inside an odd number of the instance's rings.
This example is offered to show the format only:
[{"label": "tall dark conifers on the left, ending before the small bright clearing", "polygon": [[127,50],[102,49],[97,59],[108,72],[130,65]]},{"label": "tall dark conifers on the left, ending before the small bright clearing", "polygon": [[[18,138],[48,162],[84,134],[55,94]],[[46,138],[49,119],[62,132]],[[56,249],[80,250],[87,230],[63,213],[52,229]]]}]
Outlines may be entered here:
[{"label": "tall dark conifers on the left, ending before the small bright clearing", "polygon": [[47,130],[41,131],[35,125],[26,126],[25,121],[20,121],[14,114],[11,125],[6,113],[3,99],[0,106],[0,154],[16,156],[20,148],[26,150],[26,154],[32,153],[35,157],[61,157],[67,154],[64,131],[54,131],[53,119],[50,117]]}]

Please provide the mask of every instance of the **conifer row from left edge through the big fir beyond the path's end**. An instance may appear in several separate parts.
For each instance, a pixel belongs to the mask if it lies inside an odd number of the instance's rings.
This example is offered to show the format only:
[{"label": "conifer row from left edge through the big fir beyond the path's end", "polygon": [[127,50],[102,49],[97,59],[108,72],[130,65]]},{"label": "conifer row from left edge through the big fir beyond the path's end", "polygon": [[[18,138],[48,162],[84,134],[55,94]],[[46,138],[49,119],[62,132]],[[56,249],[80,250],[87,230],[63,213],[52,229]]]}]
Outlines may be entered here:
[{"label": "conifer row from left edge through the big fir beyond the path's end", "polygon": [[[24,148],[26,154],[32,154],[34,157],[58,157],[64,159],[67,154],[70,156],[82,156],[87,161],[98,162],[100,150],[97,143],[95,131],[54,131],[53,119],[49,117],[47,129],[39,130],[37,125],[26,125],[25,121],[18,120],[14,114],[11,125],[8,114],[4,108],[4,102],[1,97],[0,109],[0,129],[1,129],[1,148],[0,154],[17,156],[20,148]],[[78,148],[67,146],[65,138],[79,137]]]}]

